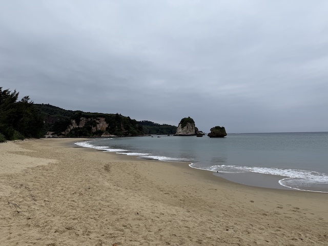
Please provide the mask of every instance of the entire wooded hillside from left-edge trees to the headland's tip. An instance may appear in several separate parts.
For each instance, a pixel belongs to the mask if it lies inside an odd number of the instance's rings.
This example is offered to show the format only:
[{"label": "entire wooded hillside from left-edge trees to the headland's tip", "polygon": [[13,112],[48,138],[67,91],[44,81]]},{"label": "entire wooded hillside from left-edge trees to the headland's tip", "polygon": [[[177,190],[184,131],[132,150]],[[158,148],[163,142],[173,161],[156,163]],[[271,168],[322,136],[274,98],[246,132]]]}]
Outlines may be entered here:
[{"label": "entire wooded hillside from left-edge trees to the headland's tip", "polygon": [[[18,100],[19,93],[0,87],[0,142],[39,138],[51,133],[56,137],[142,136],[175,134],[175,126],[152,121],[137,121],[121,114],[90,113],[34,104],[29,96]],[[103,120],[106,128],[99,127]]]}]

